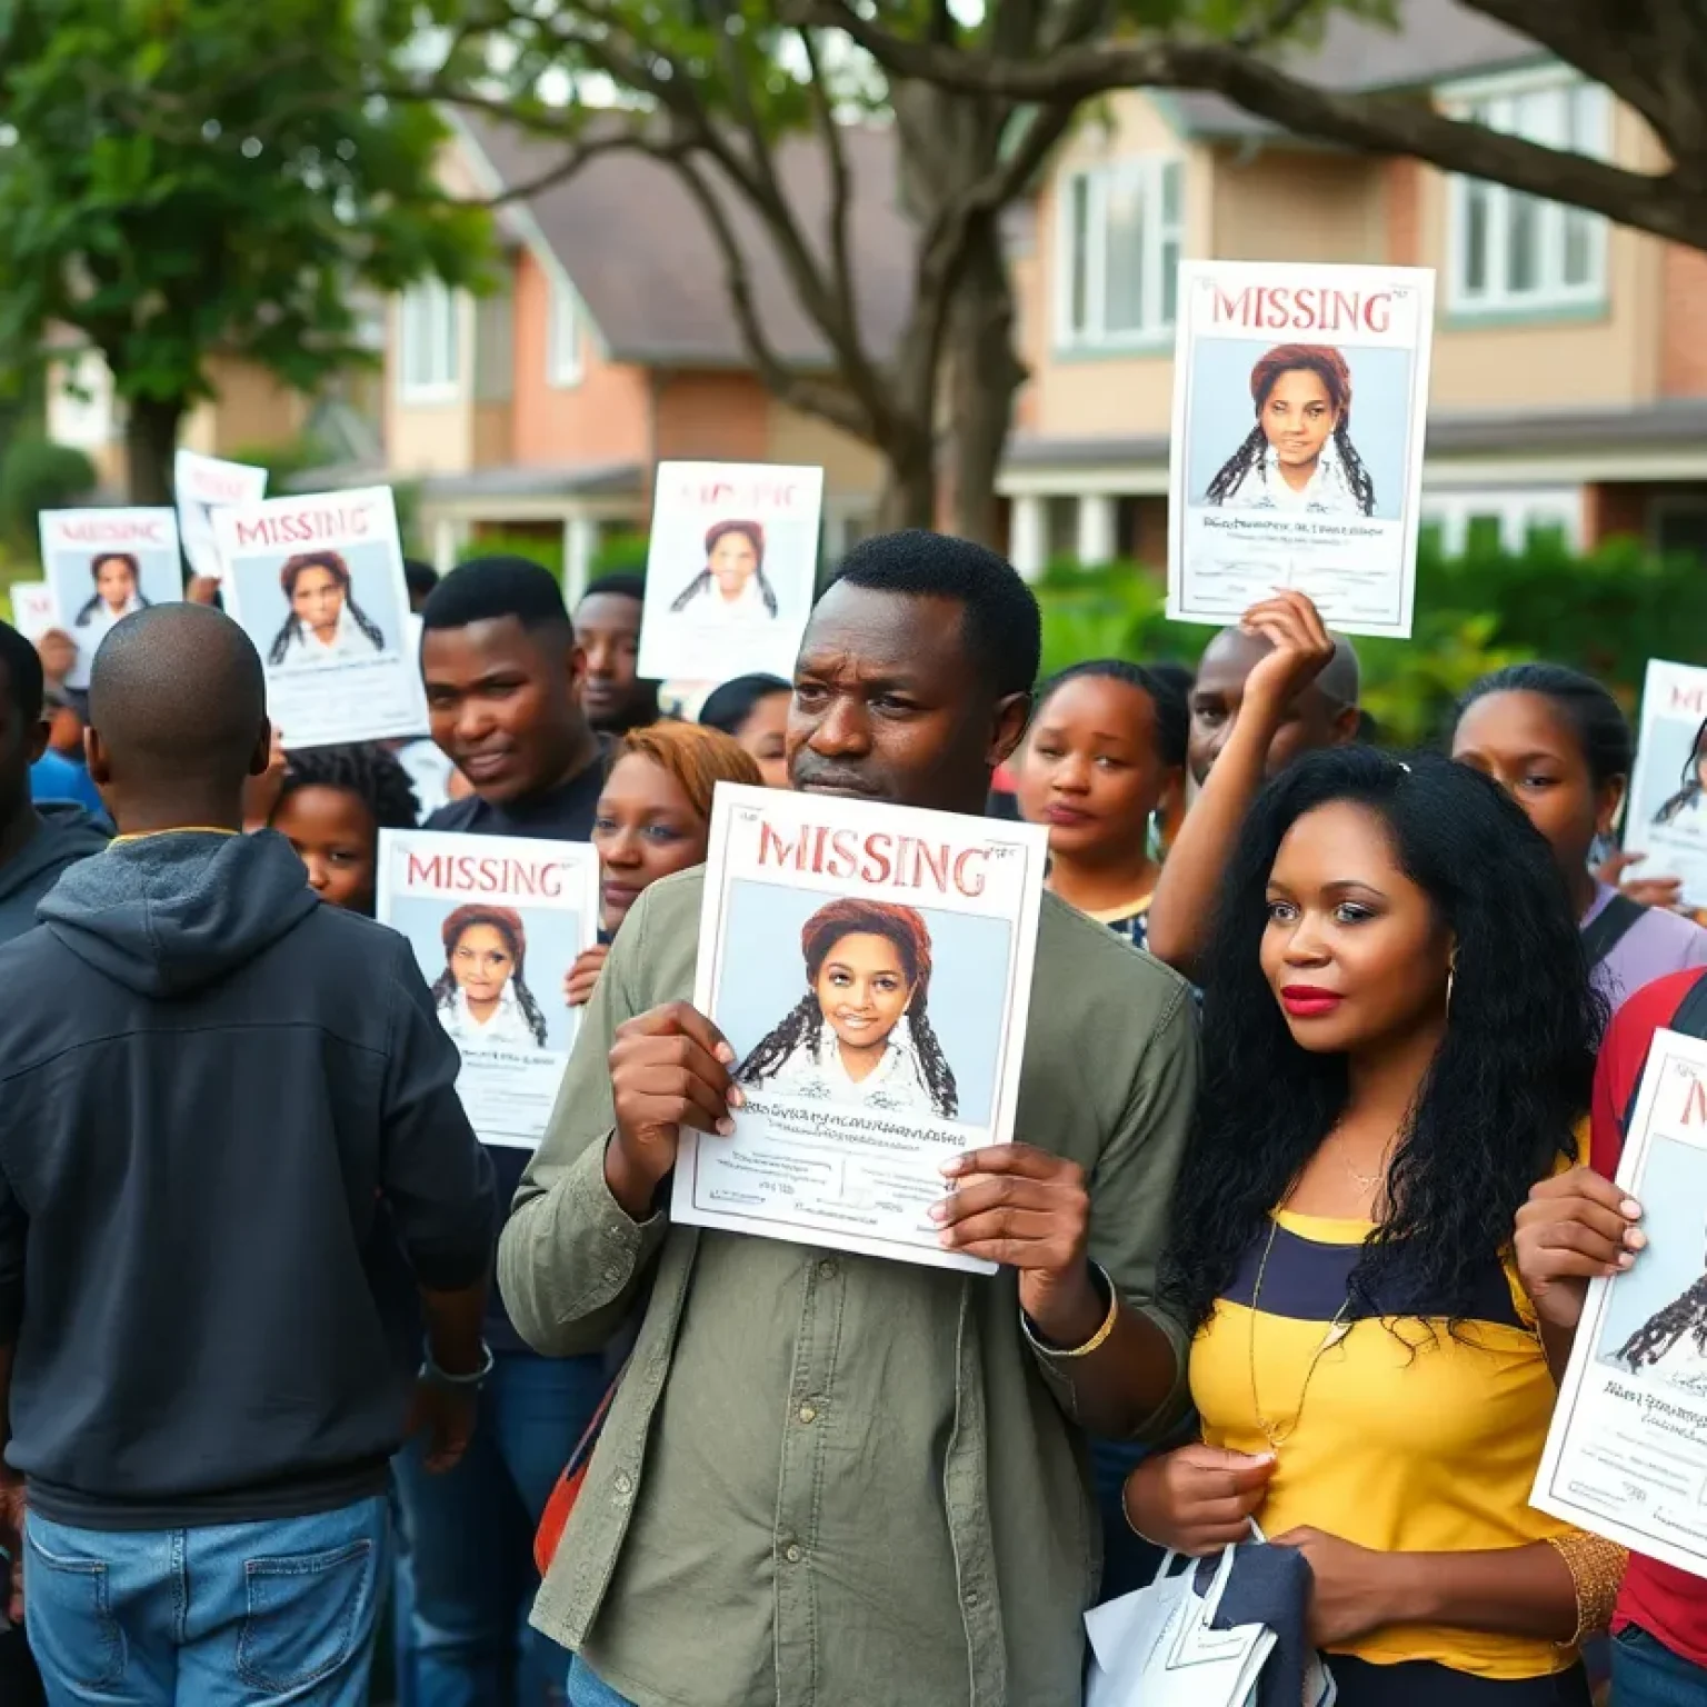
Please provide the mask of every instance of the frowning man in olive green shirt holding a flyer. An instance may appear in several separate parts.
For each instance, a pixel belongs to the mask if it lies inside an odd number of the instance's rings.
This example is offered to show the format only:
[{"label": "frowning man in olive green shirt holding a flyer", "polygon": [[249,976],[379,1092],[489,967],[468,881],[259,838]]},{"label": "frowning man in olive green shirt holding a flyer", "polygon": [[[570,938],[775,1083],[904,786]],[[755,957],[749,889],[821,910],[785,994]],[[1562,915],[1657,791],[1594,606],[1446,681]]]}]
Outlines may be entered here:
[{"label": "frowning man in olive green shirt holding a flyer", "polygon": [[[795,669],[795,789],[978,813],[1036,676],[1036,601],[935,534],[857,548]],[[633,1357],[534,1622],[572,1707],[1065,1707],[1099,1536],[1079,1429],[1154,1432],[1183,1335],[1152,1297],[1191,1116],[1186,985],[1053,896],[1016,1130],[944,1239],[995,1277],[667,1219],[732,1050],[688,1005],[703,876],[649,889],[504,1231],[516,1326]]]}]

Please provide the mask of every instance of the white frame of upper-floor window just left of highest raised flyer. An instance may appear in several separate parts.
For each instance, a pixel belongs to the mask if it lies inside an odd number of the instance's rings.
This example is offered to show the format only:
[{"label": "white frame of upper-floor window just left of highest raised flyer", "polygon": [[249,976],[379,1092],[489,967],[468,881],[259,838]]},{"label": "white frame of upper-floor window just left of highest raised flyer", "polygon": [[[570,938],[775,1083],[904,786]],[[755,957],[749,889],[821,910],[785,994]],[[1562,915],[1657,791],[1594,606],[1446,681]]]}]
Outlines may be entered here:
[{"label": "white frame of upper-floor window just left of highest raised flyer", "polygon": [[[1176,215],[1164,217],[1168,172],[1176,174]],[[1074,300],[1074,186],[1086,184],[1086,292],[1084,326],[1072,323]],[[1108,191],[1137,181],[1145,222],[1144,300],[1156,316],[1144,326],[1108,331]],[[1174,258],[1185,253],[1185,160],[1178,154],[1133,154],[1120,160],[1084,166],[1057,179],[1055,208],[1055,343],[1062,350],[1154,350],[1173,345],[1174,314],[1162,319],[1166,268],[1162,253],[1169,241]]]}]

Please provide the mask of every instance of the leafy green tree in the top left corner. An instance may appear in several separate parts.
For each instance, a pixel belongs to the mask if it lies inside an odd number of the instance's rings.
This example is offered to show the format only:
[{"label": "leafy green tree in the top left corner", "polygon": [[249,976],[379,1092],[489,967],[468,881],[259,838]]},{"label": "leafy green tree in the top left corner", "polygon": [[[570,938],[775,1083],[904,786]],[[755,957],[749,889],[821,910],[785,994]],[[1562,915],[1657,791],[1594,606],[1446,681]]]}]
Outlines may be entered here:
[{"label": "leafy green tree in the top left corner", "polygon": [[133,502],[169,500],[210,358],[311,391],[372,360],[364,290],[478,282],[437,114],[367,92],[410,39],[370,0],[0,3],[0,377],[53,326],[99,350]]}]

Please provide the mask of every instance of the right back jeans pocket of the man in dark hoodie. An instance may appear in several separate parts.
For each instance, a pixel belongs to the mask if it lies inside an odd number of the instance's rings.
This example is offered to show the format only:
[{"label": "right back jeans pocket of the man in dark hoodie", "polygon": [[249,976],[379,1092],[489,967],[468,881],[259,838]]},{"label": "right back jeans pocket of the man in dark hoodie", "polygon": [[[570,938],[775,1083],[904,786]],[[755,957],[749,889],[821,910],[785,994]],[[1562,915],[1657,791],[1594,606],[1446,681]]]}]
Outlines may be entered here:
[{"label": "right back jeans pocket of the man in dark hoodie", "polygon": [[374,1594],[374,1543],[324,1553],[249,1558],[249,1606],[237,1637],[237,1676],[270,1695],[299,1690],[348,1664]]}]

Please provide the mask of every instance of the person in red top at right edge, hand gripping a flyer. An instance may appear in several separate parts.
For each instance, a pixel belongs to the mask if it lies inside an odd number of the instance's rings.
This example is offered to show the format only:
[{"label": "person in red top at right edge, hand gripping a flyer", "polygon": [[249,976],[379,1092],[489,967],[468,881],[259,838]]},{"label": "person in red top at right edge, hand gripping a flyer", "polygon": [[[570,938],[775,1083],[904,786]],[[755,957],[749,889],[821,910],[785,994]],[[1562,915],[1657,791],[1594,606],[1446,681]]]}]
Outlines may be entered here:
[{"label": "person in red top at right edge, hand gripping a flyer", "polygon": [[[1702,976],[1693,968],[1659,978],[1618,1009],[1594,1070],[1589,1166],[1541,1181],[1518,1212],[1518,1272],[1535,1299],[1548,1362],[1560,1376],[1588,1282],[1632,1268],[1647,1248],[1642,1205],[1613,1176],[1654,1033],[1673,1028]],[[1611,1627],[1617,1707],[1707,1702],[1707,1582],[1698,1576],[1632,1553]]]}]

